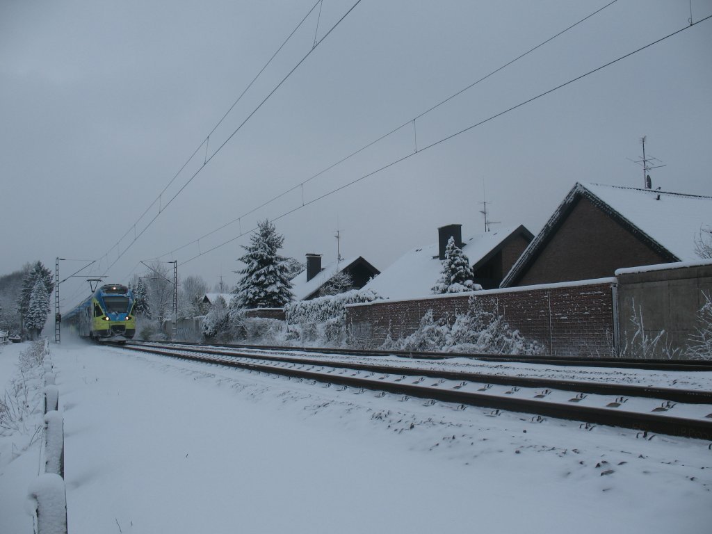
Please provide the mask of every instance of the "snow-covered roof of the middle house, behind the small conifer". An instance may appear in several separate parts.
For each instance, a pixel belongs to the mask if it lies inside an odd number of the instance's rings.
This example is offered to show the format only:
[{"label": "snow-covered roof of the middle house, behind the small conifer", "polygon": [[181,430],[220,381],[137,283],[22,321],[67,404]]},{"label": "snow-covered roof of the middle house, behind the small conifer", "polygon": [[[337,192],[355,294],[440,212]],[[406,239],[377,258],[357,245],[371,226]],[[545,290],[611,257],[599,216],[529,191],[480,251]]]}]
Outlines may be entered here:
[{"label": "snow-covered roof of the middle house, behind the small conifer", "polygon": [[[466,237],[462,240],[462,251],[470,261],[470,266],[478,268],[509,236],[522,230],[527,231],[523,226],[511,226]],[[431,296],[431,289],[442,270],[438,256],[437,242],[414,248],[367,283],[365,289],[372,289],[390,299]]]}]

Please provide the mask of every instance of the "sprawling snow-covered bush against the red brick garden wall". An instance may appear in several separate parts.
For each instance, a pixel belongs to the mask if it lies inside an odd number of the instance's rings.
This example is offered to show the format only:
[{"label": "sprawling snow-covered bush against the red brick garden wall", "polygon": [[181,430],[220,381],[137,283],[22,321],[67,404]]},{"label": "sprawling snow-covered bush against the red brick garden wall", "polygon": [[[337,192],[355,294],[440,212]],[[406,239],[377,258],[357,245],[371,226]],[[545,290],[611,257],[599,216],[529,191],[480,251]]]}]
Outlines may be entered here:
[{"label": "sprawling snow-covered bush against the red brick garden wall", "polygon": [[444,315],[435,320],[428,310],[418,329],[399,340],[387,339],[384,349],[426,352],[472,352],[482,354],[536,355],[544,347],[528,341],[496,313],[488,299],[471,296],[466,313]]}]

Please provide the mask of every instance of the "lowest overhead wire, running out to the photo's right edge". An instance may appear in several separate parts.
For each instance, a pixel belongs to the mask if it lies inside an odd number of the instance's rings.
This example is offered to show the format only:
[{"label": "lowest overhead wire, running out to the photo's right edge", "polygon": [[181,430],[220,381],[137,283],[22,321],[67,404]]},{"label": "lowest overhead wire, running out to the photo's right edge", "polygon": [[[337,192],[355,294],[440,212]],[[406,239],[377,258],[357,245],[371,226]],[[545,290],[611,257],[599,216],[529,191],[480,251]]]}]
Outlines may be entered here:
[{"label": "lowest overhead wire, running out to the photo's right edge", "polygon": [[[388,163],[388,164],[385,164],[384,166],[379,167],[378,169],[375,169],[375,170],[373,170],[372,172],[369,172],[369,173],[367,173],[367,174],[363,174],[361,177],[358,177],[358,178],[356,178],[356,179],[353,179],[351,182],[348,182],[347,184],[343,184],[343,185],[341,185],[340,187],[336,187],[335,189],[332,189],[332,190],[330,190],[329,192],[326,192],[325,194],[320,195],[319,197],[315,197],[314,199],[311,199],[310,201],[307,201],[307,202],[305,202],[305,203],[302,204],[302,205],[296,206],[296,207],[293,208],[293,209],[289,209],[288,211],[283,212],[281,215],[278,215],[278,216],[276,216],[276,217],[273,217],[271,220],[272,220],[272,221],[278,221],[278,220],[280,220],[280,219],[283,219],[283,217],[286,217],[286,216],[288,216],[288,215],[290,215],[290,214],[293,214],[295,211],[299,211],[300,209],[303,209],[303,208],[305,208],[306,206],[309,206],[310,204],[314,204],[315,202],[320,201],[320,200],[322,200],[322,199],[325,199],[326,197],[330,197],[331,195],[333,195],[333,194],[335,194],[335,193],[337,193],[337,192],[340,192],[342,189],[346,189],[347,187],[351,187],[353,184],[357,184],[358,182],[361,182],[362,180],[364,180],[364,179],[366,179],[366,178],[368,178],[368,177],[372,177],[374,174],[377,174],[377,173],[379,173],[379,172],[382,172],[382,171],[384,171],[385,169],[388,169],[389,167],[393,167],[394,165],[399,164],[400,162],[403,162],[404,160],[409,159],[410,157],[413,157],[414,155],[421,154],[421,153],[424,152],[425,150],[429,150],[429,149],[432,148],[432,147],[436,147],[437,145],[441,145],[441,143],[447,142],[447,141],[453,139],[454,137],[457,137],[457,136],[459,136],[459,135],[461,135],[461,134],[464,134],[465,132],[468,132],[468,131],[470,131],[470,130],[473,130],[473,128],[476,128],[476,127],[479,127],[479,126],[481,126],[481,125],[484,125],[484,124],[486,124],[487,122],[490,122],[491,120],[494,120],[494,119],[496,119],[496,118],[498,118],[498,117],[501,117],[502,115],[505,115],[505,114],[508,113],[508,112],[511,112],[511,111],[513,111],[513,110],[516,110],[516,109],[518,109],[518,108],[521,108],[522,106],[527,105],[527,104],[529,104],[529,103],[532,103],[532,102],[534,102],[535,100],[538,100],[539,98],[543,98],[544,96],[549,95],[550,93],[554,93],[555,91],[557,91],[557,90],[559,90],[559,89],[561,89],[561,88],[564,88],[564,87],[566,87],[567,85],[570,85],[570,84],[572,84],[572,83],[575,83],[575,82],[577,82],[578,80],[582,80],[583,78],[586,78],[586,77],[589,76],[589,75],[592,75],[592,74],[594,74],[594,73],[597,73],[598,71],[600,71],[600,70],[602,70],[602,69],[604,69],[604,68],[607,68],[607,67],[609,67],[609,66],[612,66],[612,65],[614,65],[614,63],[618,63],[619,61],[622,61],[622,60],[624,60],[624,59],[626,59],[626,58],[629,58],[630,56],[634,56],[634,54],[637,54],[637,53],[639,53],[639,52],[641,52],[641,51],[644,51],[644,50],[646,50],[646,48],[650,48],[651,46],[654,46],[654,45],[656,45],[656,44],[658,44],[658,43],[661,43],[662,41],[665,41],[666,39],[671,38],[672,36],[676,36],[678,33],[681,33],[681,32],[683,32],[683,31],[689,30],[689,29],[692,28],[693,26],[697,26],[699,23],[702,23],[702,22],[704,22],[704,21],[708,21],[709,19],[712,19],[712,15],[708,15],[708,16],[704,17],[703,19],[700,19],[700,20],[698,20],[698,21],[696,21],[696,22],[694,22],[694,23],[691,23],[691,24],[689,24],[689,26],[684,26],[683,28],[680,28],[679,30],[676,30],[676,31],[674,31],[674,32],[672,32],[672,33],[669,33],[669,34],[667,34],[667,35],[664,36],[664,37],[661,37],[661,38],[659,38],[659,39],[656,39],[656,41],[652,41],[651,43],[648,43],[648,44],[646,44],[645,46],[642,46],[642,47],[640,47],[640,48],[637,48],[636,50],[634,50],[634,51],[632,51],[632,52],[629,52],[629,53],[627,53],[627,54],[624,54],[623,56],[619,56],[618,58],[614,59],[613,61],[609,61],[608,63],[604,63],[604,65],[602,65],[602,66],[599,66],[599,67],[597,67],[597,68],[594,68],[594,69],[592,69],[592,70],[589,70],[589,71],[587,71],[586,73],[583,73],[582,75],[577,76],[576,78],[572,78],[572,79],[570,79],[570,80],[568,80],[568,81],[566,81],[566,82],[564,82],[564,83],[561,83],[560,85],[556,85],[555,87],[553,87],[553,88],[551,88],[551,89],[549,89],[549,90],[546,90],[546,91],[544,91],[543,93],[539,93],[538,95],[535,95],[535,96],[533,96],[532,98],[529,98],[528,100],[524,100],[523,102],[520,102],[520,103],[518,103],[517,105],[513,105],[511,108],[508,108],[508,109],[503,110],[503,111],[501,111],[501,112],[498,112],[498,113],[496,113],[496,114],[494,114],[494,115],[491,115],[490,117],[487,117],[487,118],[484,119],[484,120],[481,120],[481,121],[479,121],[479,122],[476,122],[475,124],[470,125],[470,126],[464,128],[464,129],[462,129],[462,130],[459,130],[458,132],[454,132],[454,133],[451,134],[451,135],[447,135],[446,137],[442,137],[440,140],[437,140],[437,141],[435,141],[435,142],[432,142],[430,145],[427,145],[427,146],[425,146],[425,147],[420,148],[417,152],[409,152],[407,155],[404,155],[403,157],[399,157],[398,159],[395,159],[394,161],[392,161],[392,162],[390,162],[390,163]],[[407,124],[409,124],[409,122],[408,122]],[[233,241],[236,241],[237,239],[240,239],[242,236],[244,236],[244,235],[246,235],[246,234],[249,234],[249,233],[255,231],[256,229],[257,229],[257,228],[255,227],[255,228],[253,228],[253,229],[251,229],[251,230],[249,230],[249,231],[241,232],[241,234],[240,234],[239,236],[234,236],[233,238],[231,238],[231,239],[229,239],[229,240],[227,240],[227,241],[224,241],[223,243],[221,243],[221,244],[219,244],[219,245],[216,245],[216,246],[214,246],[214,247],[212,247],[212,248],[209,248],[209,250],[203,251],[203,252],[201,252],[201,253],[199,253],[199,254],[197,254],[197,255],[195,255],[195,256],[192,256],[192,258],[188,258],[186,261],[183,261],[182,263],[179,263],[178,266],[183,266],[183,265],[185,265],[186,263],[189,263],[189,262],[193,261],[194,259],[199,258],[200,256],[204,256],[204,255],[207,254],[207,253],[210,253],[210,252],[212,252],[212,251],[215,251],[215,250],[217,250],[218,248],[221,248],[221,247],[223,247],[223,246],[226,246],[227,244],[230,244],[230,243],[232,243]]]}]

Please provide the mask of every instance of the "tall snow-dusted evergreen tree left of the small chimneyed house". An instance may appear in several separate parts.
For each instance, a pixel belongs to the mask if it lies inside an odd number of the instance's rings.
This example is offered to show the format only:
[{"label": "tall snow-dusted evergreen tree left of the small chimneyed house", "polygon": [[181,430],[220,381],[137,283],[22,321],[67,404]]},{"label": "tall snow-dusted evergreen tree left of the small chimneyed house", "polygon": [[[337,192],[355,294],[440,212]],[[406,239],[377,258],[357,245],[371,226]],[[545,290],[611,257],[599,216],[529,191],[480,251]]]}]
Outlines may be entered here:
[{"label": "tall snow-dusted evergreen tree left of the small chimneyed house", "polygon": [[270,221],[260,221],[250,245],[242,246],[247,253],[239,258],[245,268],[237,271],[242,278],[234,290],[237,303],[243,308],[281,308],[290,302],[291,291],[287,258],[279,256],[284,236]]}]

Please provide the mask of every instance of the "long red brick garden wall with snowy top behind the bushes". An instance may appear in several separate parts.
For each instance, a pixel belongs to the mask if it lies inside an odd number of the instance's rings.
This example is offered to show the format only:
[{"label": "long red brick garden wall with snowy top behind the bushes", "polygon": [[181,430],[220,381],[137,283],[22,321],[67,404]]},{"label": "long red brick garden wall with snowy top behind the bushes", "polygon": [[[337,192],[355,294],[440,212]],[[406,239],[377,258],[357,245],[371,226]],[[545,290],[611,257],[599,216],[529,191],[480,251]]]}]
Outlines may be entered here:
[{"label": "long red brick garden wall with snowy top behind the bushes", "polygon": [[[483,291],[488,305],[528,340],[537,340],[553,355],[608,356],[613,339],[612,281],[577,286],[543,286],[530,290]],[[465,313],[468,296],[378,301],[349,305],[346,324],[362,339],[380,345],[388,335],[405,337],[417,330],[432,309],[434,318]]]}]

